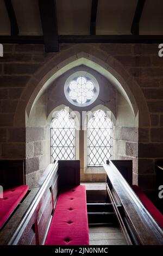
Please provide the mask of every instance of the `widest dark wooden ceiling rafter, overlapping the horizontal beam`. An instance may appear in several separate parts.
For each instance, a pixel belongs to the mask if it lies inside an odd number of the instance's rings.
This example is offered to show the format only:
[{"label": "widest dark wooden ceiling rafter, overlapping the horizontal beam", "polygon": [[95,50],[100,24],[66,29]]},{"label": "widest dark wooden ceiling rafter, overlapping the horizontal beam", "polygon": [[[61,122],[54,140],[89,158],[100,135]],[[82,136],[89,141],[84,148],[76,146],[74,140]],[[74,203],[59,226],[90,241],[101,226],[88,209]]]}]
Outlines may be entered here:
[{"label": "widest dark wooden ceiling rafter, overlapping the horizontal beam", "polygon": [[58,52],[58,25],[55,0],[39,0],[43,40],[46,52]]}]

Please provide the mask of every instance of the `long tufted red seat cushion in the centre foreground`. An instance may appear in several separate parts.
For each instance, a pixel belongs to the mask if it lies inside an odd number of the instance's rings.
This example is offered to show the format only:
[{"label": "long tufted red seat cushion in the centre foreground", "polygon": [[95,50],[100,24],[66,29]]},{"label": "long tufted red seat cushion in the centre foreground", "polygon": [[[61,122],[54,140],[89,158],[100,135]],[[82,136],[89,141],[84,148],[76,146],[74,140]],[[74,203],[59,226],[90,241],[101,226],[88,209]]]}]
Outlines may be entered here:
[{"label": "long tufted red seat cushion in the centre foreground", "polygon": [[89,245],[85,186],[59,194],[46,245]]}]

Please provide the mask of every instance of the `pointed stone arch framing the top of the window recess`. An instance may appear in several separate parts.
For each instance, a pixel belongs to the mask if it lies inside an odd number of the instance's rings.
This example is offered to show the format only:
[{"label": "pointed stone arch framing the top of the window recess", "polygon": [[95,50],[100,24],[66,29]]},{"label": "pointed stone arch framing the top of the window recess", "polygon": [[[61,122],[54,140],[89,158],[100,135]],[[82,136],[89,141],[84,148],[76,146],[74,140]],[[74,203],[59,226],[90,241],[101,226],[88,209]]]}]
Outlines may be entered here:
[{"label": "pointed stone arch framing the top of the window recess", "polygon": [[[139,84],[134,81],[134,78],[129,75],[122,64],[110,54],[95,47],[92,48],[91,45],[86,47],[76,45],[66,51],[56,53],[30,78],[17,104],[14,126],[26,126],[26,118],[28,118],[34,103],[49,84],[67,70],[81,64],[98,70],[120,90],[133,109],[135,116],[139,112],[139,127],[149,125],[149,113],[145,97]],[[20,124],[20,119],[23,125]]]}]

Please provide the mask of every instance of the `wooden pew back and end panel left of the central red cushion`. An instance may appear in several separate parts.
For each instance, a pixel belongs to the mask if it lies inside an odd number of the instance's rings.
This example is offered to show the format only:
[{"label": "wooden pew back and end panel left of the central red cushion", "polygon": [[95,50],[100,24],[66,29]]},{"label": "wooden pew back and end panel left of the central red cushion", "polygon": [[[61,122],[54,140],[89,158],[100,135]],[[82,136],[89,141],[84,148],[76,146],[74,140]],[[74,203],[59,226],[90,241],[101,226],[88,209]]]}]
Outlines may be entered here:
[{"label": "wooden pew back and end panel left of the central red cushion", "polygon": [[80,184],[80,161],[56,161],[45,173],[0,231],[0,245],[45,243],[61,186]]}]

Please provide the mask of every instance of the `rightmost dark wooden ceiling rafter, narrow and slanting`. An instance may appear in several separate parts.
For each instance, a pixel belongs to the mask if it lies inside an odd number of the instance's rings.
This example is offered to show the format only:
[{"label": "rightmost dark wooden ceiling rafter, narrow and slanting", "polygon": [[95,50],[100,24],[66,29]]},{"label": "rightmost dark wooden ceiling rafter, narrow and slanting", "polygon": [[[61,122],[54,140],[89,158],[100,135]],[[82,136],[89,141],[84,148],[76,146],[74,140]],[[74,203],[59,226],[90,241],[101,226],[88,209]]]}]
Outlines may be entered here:
[{"label": "rightmost dark wooden ceiling rafter, narrow and slanting", "polygon": [[133,35],[139,35],[139,22],[140,22],[144,5],[145,5],[145,0],[138,0],[133,23],[131,26],[131,34]]}]

